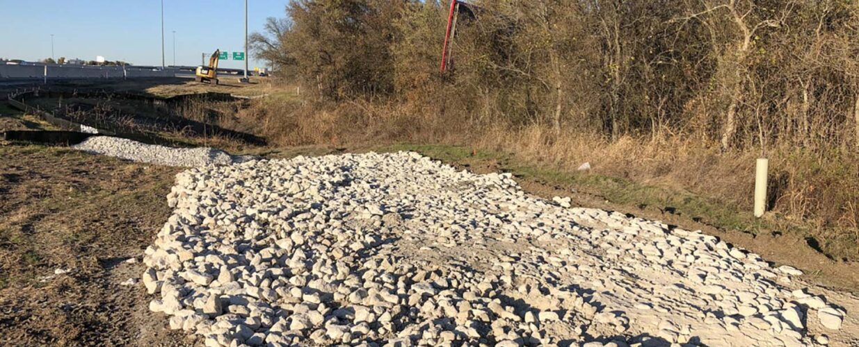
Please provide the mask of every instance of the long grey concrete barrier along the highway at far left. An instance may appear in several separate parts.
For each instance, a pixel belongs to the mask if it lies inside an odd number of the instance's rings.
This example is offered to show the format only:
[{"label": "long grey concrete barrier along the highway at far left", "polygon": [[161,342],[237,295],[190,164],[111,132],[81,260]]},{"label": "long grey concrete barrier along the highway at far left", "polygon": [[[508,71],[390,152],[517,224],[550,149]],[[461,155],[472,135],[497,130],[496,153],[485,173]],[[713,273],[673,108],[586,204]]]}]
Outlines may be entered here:
[{"label": "long grey concrete barrier along the highway at far left", "polygon": [[0,81],[5,80],[62,80],[77,78],[136,78],[175,77],[180,69],[142,69],[131,66],[83,65],[0,65]]}]

